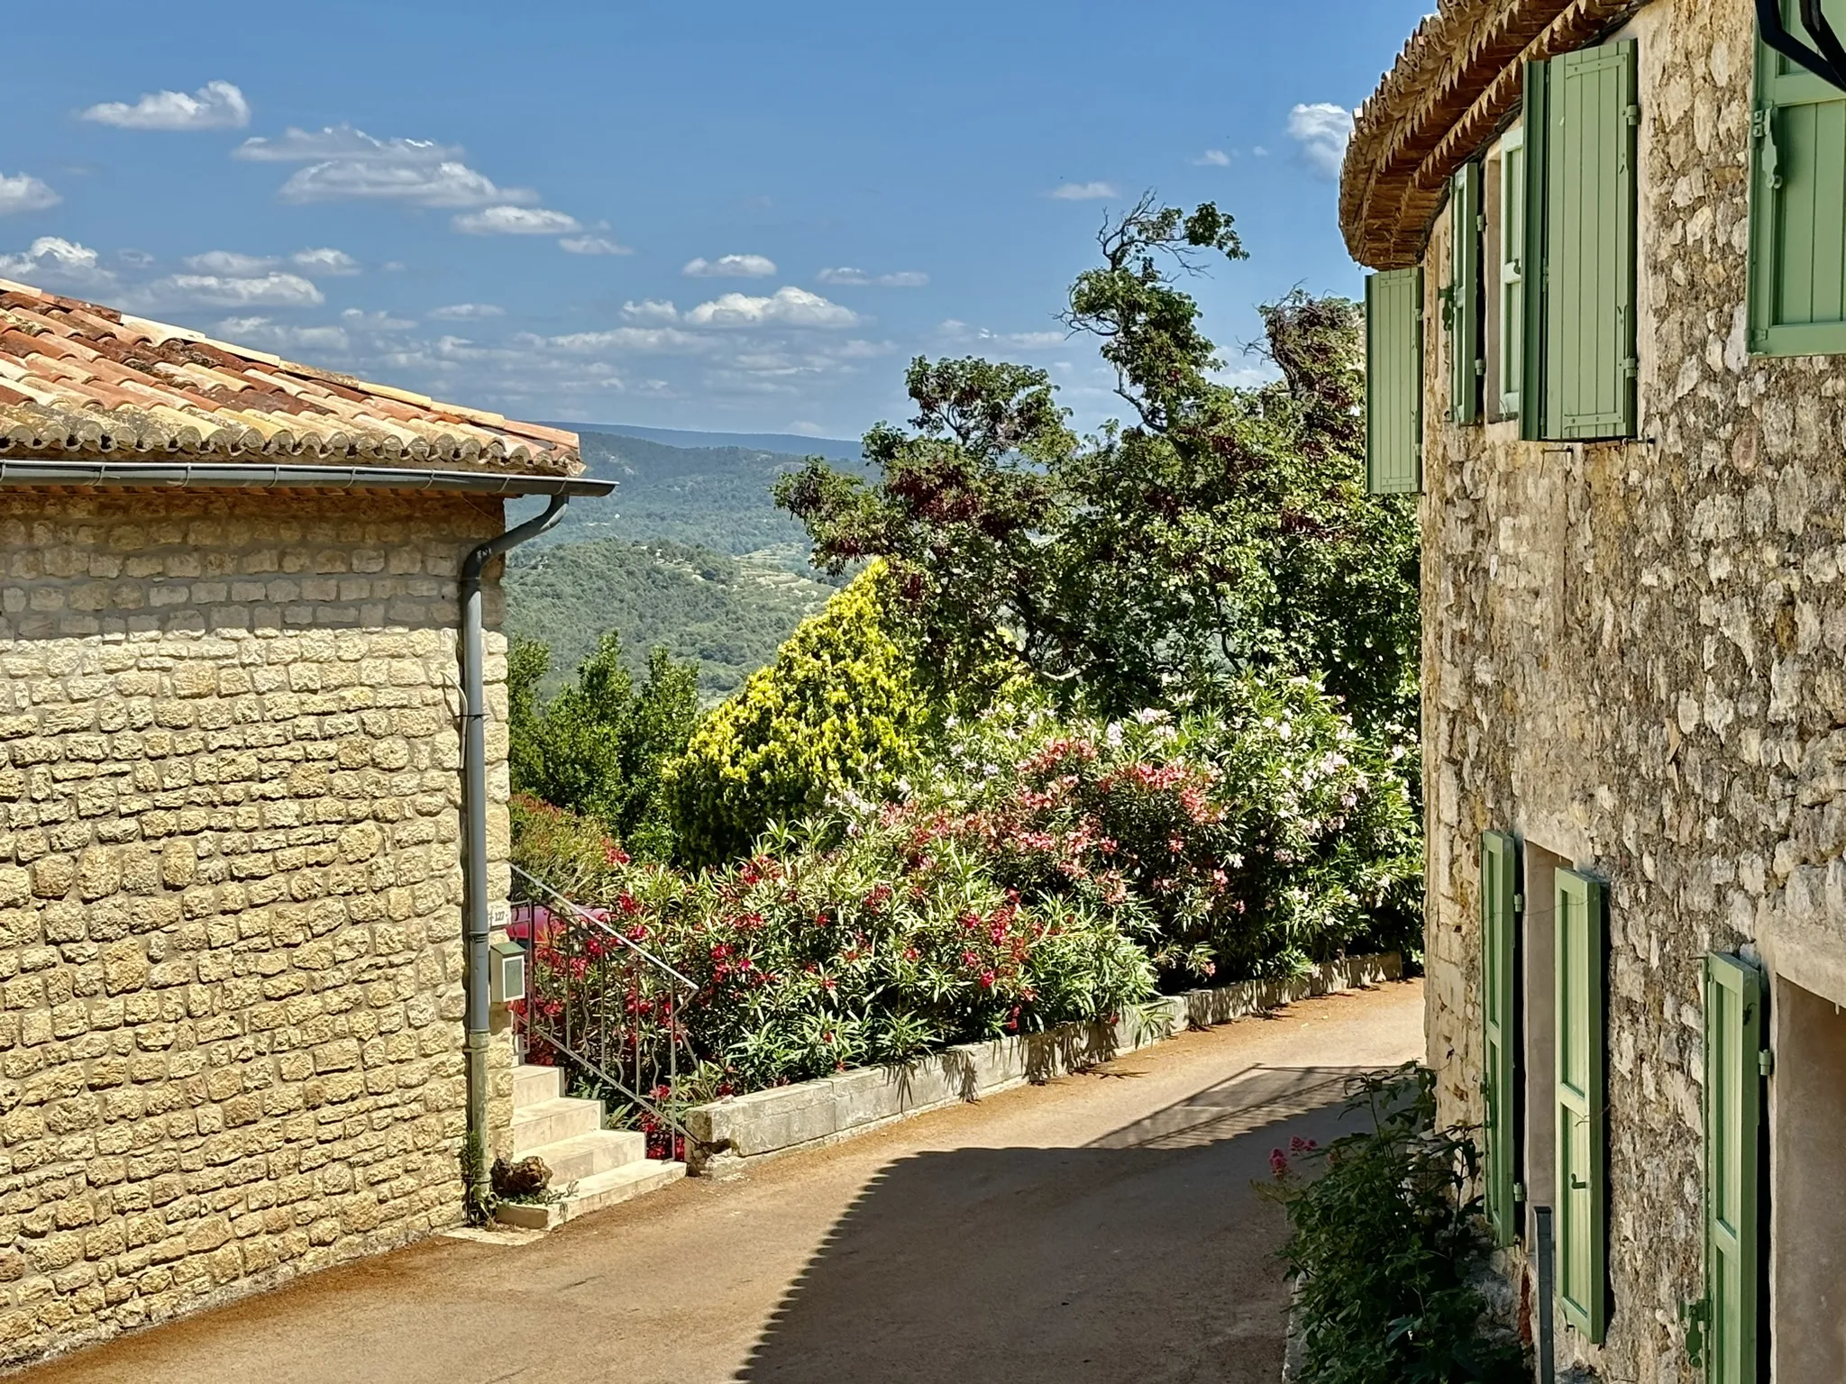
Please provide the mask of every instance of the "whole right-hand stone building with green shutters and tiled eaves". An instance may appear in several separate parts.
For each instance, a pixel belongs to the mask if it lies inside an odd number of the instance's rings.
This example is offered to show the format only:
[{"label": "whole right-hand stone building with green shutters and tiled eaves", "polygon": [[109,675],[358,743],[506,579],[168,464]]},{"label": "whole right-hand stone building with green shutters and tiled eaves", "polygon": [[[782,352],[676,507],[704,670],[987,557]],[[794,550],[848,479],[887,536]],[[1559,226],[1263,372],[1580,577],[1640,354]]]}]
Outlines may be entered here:
[{"label": "whole right-hand stone building with green shutters and tiled eaves", "polygon": [[1846,54],[1776,4],[1444,0],[1340,194],[1429,1056],[1610,1380],[1846,1380]]}]

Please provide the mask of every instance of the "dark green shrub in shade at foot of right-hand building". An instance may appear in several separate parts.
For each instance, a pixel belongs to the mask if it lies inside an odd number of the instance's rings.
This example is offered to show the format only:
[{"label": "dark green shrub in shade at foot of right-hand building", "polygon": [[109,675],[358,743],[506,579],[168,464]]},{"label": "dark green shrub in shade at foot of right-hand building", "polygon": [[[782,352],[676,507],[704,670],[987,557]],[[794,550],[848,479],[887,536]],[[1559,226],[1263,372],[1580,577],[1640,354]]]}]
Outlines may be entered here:
[{"label": "dark green shrub in shade at foot of right-hand building", "polygon": [[[1283,1259],[1309,1384],[1514,1384],[1530,1378],[1519,1347],[1486,1321],[1471,1286],[1488,1253],[1468,1188],[1479,1153],[1436,1129],[1436,1078],[1414,1063],[1362,1078],[1348,1113],[1370,1129],[1325,1150],[1276,1150],[1276,1196],[1289,1211]],[[1290,1157],[1292,1155],[1292,1157]],[[1303,1175],[1298,1164],[1318,1164]]]}]

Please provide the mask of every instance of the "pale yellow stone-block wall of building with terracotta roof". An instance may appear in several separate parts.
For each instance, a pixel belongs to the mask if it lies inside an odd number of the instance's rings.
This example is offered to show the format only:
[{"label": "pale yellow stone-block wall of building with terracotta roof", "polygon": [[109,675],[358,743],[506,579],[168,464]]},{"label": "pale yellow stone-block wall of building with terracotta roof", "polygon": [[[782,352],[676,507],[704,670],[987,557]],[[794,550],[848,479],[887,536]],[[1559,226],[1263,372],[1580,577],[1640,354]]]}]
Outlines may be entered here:
[{"label": "pale yellow stone-block wall of building with terracotta roof", "polygon": [[0,491],[0,1362],[460,1220],[456,572],[498,530]]}]

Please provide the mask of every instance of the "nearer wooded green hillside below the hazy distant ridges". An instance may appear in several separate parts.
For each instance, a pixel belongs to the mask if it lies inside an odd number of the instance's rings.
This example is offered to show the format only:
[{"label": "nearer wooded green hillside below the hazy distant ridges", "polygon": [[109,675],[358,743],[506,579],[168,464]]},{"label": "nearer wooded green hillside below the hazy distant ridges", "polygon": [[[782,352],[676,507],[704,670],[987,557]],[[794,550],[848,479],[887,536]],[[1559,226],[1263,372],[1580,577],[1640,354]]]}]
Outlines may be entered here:
[{"label": "nearer wooded green hillside below the hazy distant ridges", "polygon": [[[759,504],[768,511],[768,482],[762,485]],[[731,557],[713,548],[613,537],[532,544],[508,555],[506,627],[552,650],[543,692],[561,686],[594,653],[604,631],[620,629],[622,662],[631,674],[644,675],[646,651],[665,648],[698,664],[700,698],[716,703],[770,662],[794,627],[838,589],[812,568],[797,576],[792,565],[807,568],[805,543],[794,561],[786,554]]]}]

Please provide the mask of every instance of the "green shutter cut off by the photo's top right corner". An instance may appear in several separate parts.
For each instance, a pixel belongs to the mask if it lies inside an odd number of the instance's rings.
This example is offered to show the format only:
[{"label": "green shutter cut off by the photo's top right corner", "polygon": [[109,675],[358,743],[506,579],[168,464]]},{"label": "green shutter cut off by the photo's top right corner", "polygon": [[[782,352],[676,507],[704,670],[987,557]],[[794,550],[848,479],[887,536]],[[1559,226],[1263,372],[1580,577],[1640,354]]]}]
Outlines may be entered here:
[{"label": "green shutter cut off by the photo's top right corner", "polygon": [[[1781,9],[1800,33],[1800,0]],[[1750,349],[1846,352],[1846,92],[1759,42],[1752,137]]]}]

